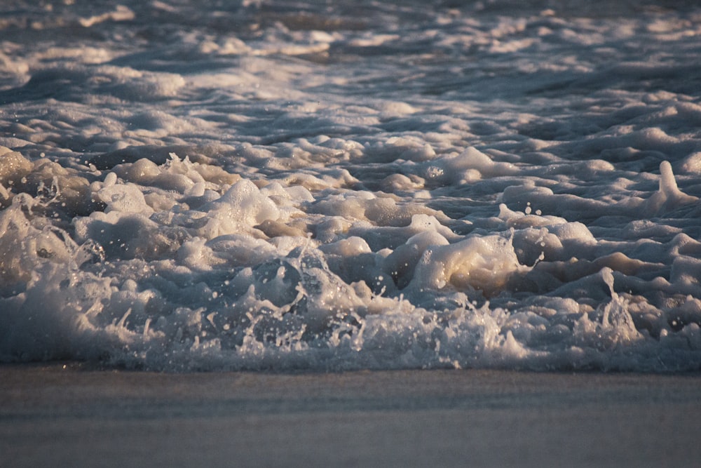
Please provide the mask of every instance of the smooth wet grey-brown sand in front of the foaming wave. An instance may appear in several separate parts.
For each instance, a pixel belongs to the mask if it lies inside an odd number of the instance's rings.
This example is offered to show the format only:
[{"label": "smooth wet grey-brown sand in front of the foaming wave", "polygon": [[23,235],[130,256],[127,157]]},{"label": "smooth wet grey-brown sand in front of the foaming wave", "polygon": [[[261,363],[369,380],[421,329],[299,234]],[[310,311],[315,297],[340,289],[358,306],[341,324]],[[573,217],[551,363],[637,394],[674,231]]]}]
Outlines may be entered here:
[{"label": "smooth wet grey-brown sand in front of the foaming wave", "polygon": [[701,374],[0,366],[3,467],[695,467]]}]

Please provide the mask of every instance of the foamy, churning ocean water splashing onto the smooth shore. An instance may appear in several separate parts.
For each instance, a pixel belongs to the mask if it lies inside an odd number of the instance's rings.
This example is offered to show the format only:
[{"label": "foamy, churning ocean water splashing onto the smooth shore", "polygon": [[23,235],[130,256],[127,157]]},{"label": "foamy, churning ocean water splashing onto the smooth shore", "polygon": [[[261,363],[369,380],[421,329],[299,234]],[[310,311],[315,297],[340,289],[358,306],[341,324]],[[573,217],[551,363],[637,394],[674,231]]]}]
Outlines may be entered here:
[{"label": "foamy, churning ocean water splashing onto the smooth shore", "polygon": [[0,362],[701,369],[701,8],[4,1]]}]

